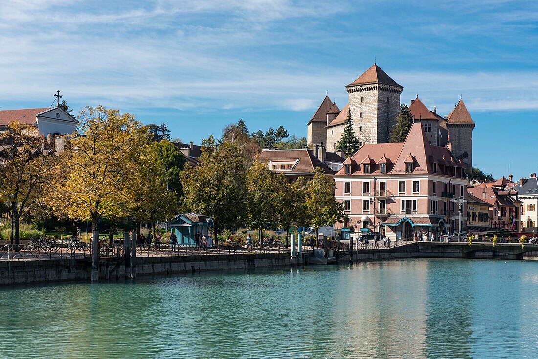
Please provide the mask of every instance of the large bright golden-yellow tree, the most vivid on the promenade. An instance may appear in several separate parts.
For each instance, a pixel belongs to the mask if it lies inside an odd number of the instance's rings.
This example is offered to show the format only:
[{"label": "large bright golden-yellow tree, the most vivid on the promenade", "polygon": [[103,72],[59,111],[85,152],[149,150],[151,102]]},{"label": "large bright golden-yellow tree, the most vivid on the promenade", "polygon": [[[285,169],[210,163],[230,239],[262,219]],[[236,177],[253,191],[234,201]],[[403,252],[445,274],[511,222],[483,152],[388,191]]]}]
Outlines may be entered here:
[{"label": "large bright golden-yellow tree, the most vivid on the promenade", "polygon": [[125,216],[136,201],[133,179],[150,136],[119,110],[87,106],[78,119],[83,136],[59,157],[50,203],[55,213],[90,220],[96,230],[100,219]]}]

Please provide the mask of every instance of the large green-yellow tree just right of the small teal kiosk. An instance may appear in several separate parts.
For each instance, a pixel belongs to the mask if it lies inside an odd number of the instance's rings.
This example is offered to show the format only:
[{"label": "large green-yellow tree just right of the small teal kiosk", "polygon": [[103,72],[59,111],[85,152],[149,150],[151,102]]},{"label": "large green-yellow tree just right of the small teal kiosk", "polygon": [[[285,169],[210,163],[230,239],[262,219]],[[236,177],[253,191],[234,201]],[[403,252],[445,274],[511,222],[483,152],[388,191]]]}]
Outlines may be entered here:
[{"label": "large green-yellow tree just right of the small teal kiosk", "polygon": [[220,231],[244,223],[245,168],[237,145],[217,145],[213,136],[202,140],[199,164],[181,171],[181,184],[183,205],[215,221],[215,243]]}]

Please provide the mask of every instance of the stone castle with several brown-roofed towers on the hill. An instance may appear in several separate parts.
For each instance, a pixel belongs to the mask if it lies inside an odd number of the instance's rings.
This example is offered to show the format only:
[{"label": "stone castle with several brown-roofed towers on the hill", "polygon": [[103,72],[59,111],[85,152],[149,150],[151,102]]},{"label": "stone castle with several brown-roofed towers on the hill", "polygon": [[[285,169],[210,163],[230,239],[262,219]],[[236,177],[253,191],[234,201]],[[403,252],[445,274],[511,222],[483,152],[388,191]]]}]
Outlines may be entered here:
[{"label": "stone castle with several brown-roofed towers on the hill", "polygon": [[[308,146],[323,144],[327,151],[336,152],[348,110],[361,146],[387,143],[400,111],[400,94],[404,87],[377,64],[373,64],[345,88],[348,103],[342,110],[327,95],[310,118],[307,124]],[[475,122],[461,98],[448,116],[438,115],[435,107],[429,110],[418,96],[411,100],[409,111],[415,121],[422,123],[430,144],[448,147],[468,170],[472,167],[472,131]]]}]

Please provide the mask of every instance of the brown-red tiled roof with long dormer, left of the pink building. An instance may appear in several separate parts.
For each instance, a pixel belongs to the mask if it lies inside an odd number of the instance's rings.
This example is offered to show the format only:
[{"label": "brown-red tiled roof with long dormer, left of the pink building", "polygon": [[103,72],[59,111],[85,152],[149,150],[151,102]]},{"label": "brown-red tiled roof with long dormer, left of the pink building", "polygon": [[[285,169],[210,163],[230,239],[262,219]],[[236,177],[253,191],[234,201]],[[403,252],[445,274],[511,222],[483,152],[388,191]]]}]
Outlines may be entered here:
[{"label": "brown-red tiled roof with long dormer, left of the pink building", "polygon": [[321,167],[327,174],[334,174],[334,171],[318,160],[310,149],[261,151],[257,154],[257,159],[260,162],[298,161],[291,170],[279,170],[284,174],[314,173],[317,167]]}]

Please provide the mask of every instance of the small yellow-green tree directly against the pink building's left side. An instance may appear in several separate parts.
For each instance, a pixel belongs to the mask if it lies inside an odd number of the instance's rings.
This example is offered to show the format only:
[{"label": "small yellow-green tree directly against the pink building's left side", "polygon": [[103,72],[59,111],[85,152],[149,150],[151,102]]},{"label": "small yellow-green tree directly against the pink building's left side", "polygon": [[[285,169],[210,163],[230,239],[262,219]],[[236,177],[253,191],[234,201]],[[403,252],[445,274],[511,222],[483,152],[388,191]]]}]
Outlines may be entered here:
[{"label": "small yellow-green tree directly against the pink building's left side", "polygon": [[311,181],[308,182],[308,195],[306,206],[308,208],[310,226],[317,229],[323,226],[332,226],[343,218],[343,205],[335,200],[334,181],[323,173],[321,168],[316,168],[316,172]]}]

